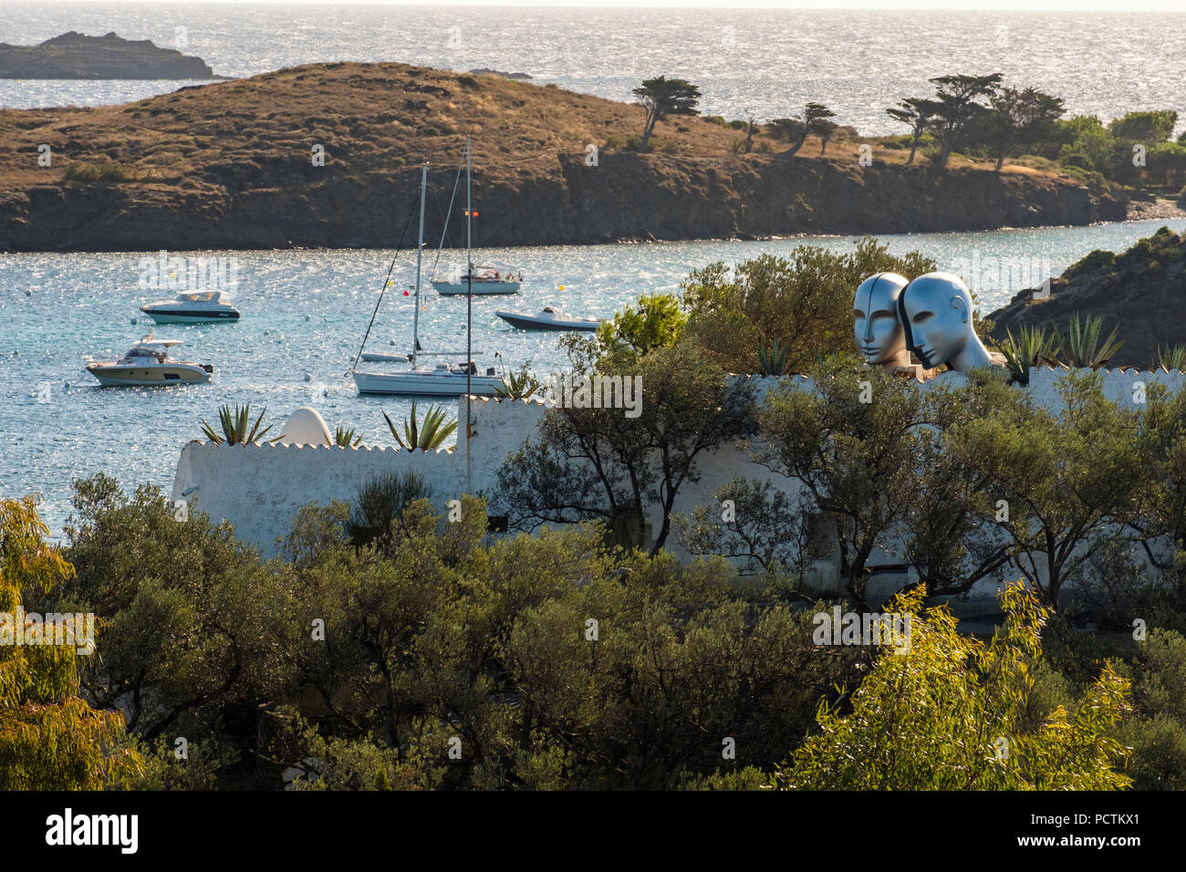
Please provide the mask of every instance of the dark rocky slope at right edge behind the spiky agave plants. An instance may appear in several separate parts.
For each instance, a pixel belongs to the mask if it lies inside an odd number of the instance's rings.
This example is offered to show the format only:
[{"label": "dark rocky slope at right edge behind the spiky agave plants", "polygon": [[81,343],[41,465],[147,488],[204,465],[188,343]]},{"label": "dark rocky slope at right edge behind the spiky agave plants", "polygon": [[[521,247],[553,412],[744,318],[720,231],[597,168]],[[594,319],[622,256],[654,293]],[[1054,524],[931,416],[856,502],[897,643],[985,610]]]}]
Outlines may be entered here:
[{"label": "dark rocky slope at right edge behind the spiky agave plants", "polygon": [[1065,333],[1073,313],[1098,314],[1104,335],[1118,326],[1124,342],[1109,365],[1148,367],[1159,348],[1186,345],[1186,234],[1161,228],[1123,254],[1092,252],[1051,282],[1047,299],[1034,293],[1022,291],[988,316],[994,338],[1022,325]]}]

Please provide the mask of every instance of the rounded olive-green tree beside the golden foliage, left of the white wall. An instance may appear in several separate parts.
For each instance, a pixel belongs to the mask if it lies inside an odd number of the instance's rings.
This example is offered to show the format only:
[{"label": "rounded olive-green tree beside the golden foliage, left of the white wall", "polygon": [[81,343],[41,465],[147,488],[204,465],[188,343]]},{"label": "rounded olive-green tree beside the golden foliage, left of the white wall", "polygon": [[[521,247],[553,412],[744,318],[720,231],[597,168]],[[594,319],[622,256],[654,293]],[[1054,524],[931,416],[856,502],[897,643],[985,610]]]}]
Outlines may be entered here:
[{"label": "rounded olive-green tree beside the golden foliage, left of the white wall", "polygon": [[286,689],[282,574],[228,524],[192,509],[179,521],[154,486],[129,498],[100,475],[75,488],[66,536],[77,577],[46,606],[98,617],[103,657],[81,676],[97,706],[126,711],[148,744],[197,741],[223,714]]}]

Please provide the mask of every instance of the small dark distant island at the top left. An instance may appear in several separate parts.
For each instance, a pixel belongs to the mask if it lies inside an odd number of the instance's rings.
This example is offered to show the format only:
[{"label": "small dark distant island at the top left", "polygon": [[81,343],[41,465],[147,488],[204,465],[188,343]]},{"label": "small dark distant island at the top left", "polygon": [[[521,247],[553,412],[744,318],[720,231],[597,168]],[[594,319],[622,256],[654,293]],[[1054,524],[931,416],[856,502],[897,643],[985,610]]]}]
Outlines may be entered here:
[{"label": "small dark distant island at the top left", "polygon": [[39,45],[0,43],[0,78],[222,78],[199,57],[148,39],[70,31]]}]

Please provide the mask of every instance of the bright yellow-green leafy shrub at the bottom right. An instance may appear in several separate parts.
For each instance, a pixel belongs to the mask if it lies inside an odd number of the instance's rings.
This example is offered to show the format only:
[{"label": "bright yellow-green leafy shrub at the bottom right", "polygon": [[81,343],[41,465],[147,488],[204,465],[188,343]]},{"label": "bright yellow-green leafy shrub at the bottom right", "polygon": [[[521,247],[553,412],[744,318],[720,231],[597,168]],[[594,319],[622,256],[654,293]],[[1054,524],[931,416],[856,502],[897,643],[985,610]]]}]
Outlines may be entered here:
[{"label": "bright yellow-green leafy shrub at the bottom right", "polygon": [[779,787],[808,790],[1116,790],[1127,749],[1109,732],[1130,711],[1110,664],[1073,711],[1025,725],[1047,612],[1021,585],[1000,594],[1006,623],[990,642],[961,635],[924,591],[899,596],[910,651],[881,656],[847,700],[821,704],[820,732],[778,768]]}]

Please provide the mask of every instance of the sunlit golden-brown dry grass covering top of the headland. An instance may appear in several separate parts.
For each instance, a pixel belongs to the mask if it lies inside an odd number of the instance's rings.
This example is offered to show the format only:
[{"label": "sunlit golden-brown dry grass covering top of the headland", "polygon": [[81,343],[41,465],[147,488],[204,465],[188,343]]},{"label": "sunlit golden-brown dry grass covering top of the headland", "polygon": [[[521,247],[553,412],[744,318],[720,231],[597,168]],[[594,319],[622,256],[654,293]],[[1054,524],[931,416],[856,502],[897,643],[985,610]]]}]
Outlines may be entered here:
[{"label": "sunlit golden-brown dry grass covering top of the headland", "polygon": [[[498,76],[406,64],[310,64],[125,106],[2,110],[0,196],[60,184],[71,164],[119,164],[134,179],[103,184],[260,187],[308,168],[314,144],[325,146],[326,166],[336,172],[374,179],[410,172],[422,160],[452,164],[466,134],[474,136],[474,164],[487,177],[541,177],[555,174],[560,154],[584,157],[586,145],[605,149],[607,139],[625,142],[642,127],[638,106]],[[658,126],[652,151],[764,161],[785,148],[758,136],[755,148],[767,142],[770,153],[738,154],[739,136],[744,131],[680,117]],[[51,167],[37,164],[43,142],[53,149]],[[824,159],[855,164],[861,142],[873,145],[879,163],[903,164],[908,153],[849,135],[834,139]],[[799,155],[818,153],[818,141],[809,139]]]}]

